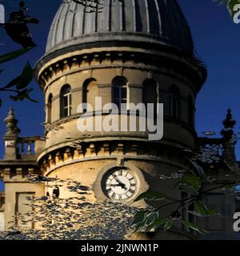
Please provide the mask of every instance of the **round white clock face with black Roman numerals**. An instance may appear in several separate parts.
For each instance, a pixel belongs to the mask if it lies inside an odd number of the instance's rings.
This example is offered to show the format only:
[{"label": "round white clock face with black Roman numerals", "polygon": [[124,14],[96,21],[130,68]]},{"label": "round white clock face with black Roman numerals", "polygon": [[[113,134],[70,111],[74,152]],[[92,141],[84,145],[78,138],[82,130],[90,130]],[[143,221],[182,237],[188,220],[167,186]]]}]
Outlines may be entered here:
[{"label": "round white clock face with black Roman numerals", "polygon": [[114,201],[127,201],[137,192],[138,182],[134,174],[126,169],[108,171],[102,179],[102,189]]}]

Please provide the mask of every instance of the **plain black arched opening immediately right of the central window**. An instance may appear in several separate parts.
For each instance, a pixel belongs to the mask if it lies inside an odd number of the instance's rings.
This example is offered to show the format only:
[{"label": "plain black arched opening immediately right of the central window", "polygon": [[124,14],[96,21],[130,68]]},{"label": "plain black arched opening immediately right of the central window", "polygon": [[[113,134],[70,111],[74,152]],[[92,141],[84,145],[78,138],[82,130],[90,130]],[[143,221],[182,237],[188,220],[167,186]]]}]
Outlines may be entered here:
[{"label": "plain black arched opening immediately right of the central window", "polygon": [[158,84],[153,79],[146,79],[143,82],[142,88],[142,103],[145,104],[147,109],[147,104],[154,104],[154,110],[157,110],[158,103]]}]

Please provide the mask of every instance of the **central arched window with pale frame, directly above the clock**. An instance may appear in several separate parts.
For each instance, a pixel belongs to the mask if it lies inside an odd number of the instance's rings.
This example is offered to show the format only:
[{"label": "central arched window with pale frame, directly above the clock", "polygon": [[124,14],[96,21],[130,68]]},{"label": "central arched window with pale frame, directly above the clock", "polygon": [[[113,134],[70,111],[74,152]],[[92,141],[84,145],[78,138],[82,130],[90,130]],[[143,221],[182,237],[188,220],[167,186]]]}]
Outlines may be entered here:
[{"label": "central arched window with pale frame, directly above the clock", "polygon": [[112,82],[112,97],[113,103],[118,107],[121,106],[121,103],[127,103],[127,80],[124,77],[116,77]]}]

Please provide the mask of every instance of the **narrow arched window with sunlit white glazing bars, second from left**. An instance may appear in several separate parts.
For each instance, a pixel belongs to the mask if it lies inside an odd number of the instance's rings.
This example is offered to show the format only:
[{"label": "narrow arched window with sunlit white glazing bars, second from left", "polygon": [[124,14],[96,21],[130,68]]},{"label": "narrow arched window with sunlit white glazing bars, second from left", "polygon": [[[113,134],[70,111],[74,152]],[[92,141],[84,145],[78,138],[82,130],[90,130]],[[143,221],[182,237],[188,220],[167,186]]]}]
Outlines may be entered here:
[{"label": "narrow arched window with sunlit white glazing bars, second from left", "polygon": [[71,87],[65,85],[60,93],[60,117],[65,118],[71,115],[72,94]]}]

